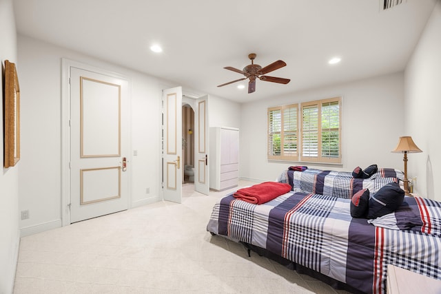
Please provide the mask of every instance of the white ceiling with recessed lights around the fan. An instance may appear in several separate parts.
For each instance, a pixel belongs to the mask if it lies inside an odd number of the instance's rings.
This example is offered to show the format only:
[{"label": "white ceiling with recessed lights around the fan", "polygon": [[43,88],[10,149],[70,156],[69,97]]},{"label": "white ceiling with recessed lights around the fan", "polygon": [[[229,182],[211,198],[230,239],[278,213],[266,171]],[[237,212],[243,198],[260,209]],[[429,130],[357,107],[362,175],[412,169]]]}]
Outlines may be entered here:
[{"label": "white ceiling with recessed lights around the fan", "polygon": [[[247,103],[257,99],[399,72],[415,48],[436,0],[14,0],[19,34],[172,81],[203,94]],[[158,43],[161,54],[150,51]],[[256,82],[223,69],[243,69],[249,53],[267,75]],[[339,56],[342,61],[329,65]],[[247,82],[247,81],[245,81]],[[242,82],[243,83],[243,82]],[[247,83],[244,83],[246,86]]]}]

